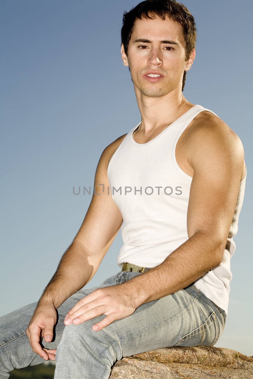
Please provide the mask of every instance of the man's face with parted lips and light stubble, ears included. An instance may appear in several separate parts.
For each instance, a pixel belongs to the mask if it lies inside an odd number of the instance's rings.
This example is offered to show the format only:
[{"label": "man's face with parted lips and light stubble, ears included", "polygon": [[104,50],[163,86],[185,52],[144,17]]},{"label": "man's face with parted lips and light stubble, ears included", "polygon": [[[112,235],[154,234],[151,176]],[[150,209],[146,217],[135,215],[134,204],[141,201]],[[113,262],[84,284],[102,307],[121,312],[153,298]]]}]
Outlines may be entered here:
[{"label": "man's face with parted lips and light stubble, ears included", "polygon": [[[150,42],[135,42],[145,39]],[[166,43],[160,41],[173,41]],[[184,70],[190,69],[195,58],[192,50],[189,60],[185,61],[185,41],[182,27],[168,17],[163,21],[155,19],[135,20],[134,30],[128,47],[128,57],[121,45],[124,66],[129,66],[135,91],[149,97],[163,96],[173,90],[182,90]],[[148,70],[157,70],[160,79],[148,78]]]}]

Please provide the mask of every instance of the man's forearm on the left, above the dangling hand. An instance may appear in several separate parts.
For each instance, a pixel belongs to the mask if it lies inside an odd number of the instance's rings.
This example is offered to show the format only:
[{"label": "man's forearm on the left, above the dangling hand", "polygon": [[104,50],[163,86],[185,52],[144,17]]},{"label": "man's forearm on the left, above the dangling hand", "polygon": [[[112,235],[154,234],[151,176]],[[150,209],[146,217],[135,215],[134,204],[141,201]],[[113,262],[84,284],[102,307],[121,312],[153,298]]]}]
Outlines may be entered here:
[{"label": "man's forearm on the left, above the dangling hand", "polygon": [[44,289],[38,305],[52,303],[57,309],[72,294],[83,288],[101,263],[99,255],[89,254],[83,246],[73,241],[64,252],[57,270]]}]

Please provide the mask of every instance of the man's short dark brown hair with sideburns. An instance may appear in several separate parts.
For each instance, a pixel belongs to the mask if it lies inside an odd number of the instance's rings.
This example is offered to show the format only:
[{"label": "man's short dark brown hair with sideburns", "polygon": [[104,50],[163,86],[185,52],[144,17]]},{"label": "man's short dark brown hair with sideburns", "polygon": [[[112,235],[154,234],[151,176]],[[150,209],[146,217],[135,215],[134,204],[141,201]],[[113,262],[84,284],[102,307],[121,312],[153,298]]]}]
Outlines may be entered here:
[{"label": "man's short dark brown hair with sideburns", "polygon": [[[165,20],[170,17],[171,20],[178,22],[182,26],[182,34],[185,40],[185,61],[189,59],[192,49],[196,49],[196,25],[195,20],[186,6],[176,0],[145,0],[130,9],[124,11],[123,25],[121,28],[121,44],[124,45],[126,56],[128,55],[128,45],[134,30],[136,19],[154,19],[156,16]],[[129,69],[130,71],[130,69]],[[182,91],[184,91],[185,78],[187,71],[184,71],[182,81]]]}]

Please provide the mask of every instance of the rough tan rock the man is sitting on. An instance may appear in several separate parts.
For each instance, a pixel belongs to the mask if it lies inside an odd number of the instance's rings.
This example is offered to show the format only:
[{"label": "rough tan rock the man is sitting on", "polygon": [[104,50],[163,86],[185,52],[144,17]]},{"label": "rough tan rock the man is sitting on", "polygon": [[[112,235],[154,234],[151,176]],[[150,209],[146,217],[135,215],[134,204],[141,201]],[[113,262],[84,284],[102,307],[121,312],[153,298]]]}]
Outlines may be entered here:
[{"label": "rough tan rock the man is sitting on", "polygon": [[253,379],[253,357],[213,346],[174,346],[123,357],[110,379]]}]

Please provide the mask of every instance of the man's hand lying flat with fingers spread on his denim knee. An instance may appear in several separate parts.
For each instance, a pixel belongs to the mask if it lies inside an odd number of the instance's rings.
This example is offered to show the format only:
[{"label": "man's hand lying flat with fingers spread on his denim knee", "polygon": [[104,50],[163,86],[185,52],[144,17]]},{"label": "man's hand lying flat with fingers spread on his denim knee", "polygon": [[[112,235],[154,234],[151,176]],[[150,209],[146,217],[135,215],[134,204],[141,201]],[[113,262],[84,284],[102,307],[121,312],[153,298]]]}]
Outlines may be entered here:
[{"label": "man's hand lying flat with fingers spread on his denim knee", "polygon": [[78,325],[93,317],[106,315],[102,321],[92,326],[93,330],[101,330],[115,320],[132,315],[138,305],[124,284],[97,288],[86,295],[68,312],[64,324]]}]

